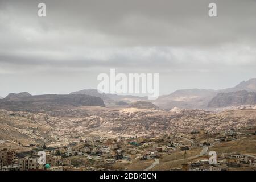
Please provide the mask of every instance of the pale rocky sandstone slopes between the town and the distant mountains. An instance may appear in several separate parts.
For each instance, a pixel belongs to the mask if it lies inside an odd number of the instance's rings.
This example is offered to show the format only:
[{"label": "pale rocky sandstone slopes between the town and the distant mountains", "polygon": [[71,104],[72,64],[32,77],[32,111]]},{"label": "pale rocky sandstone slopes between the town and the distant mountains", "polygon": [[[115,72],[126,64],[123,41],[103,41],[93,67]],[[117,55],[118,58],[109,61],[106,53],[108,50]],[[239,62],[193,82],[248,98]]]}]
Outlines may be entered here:
[{"label": "pale rocky sandstone slopes between the town and the distant mountains", "polygon": [[[129,111],[130,110],[130,111]],[[67,144],[90,135],[104,137],[190,133],[194,130],[224,131],[256,126],[255,109],[182,110],[111,109],[82,106],[47,113],[0,110],[0,139],[30,144]]]}]

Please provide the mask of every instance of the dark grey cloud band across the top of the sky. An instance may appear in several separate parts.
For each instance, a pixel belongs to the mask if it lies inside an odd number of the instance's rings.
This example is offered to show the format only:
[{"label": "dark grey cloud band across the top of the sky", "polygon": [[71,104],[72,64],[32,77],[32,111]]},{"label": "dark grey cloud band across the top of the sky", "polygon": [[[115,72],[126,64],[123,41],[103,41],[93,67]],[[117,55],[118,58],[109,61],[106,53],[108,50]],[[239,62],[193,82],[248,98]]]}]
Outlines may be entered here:
[{"label": "dark grey cloud band across the top of the sky", "polygon": [[39,2],[3,1],[1,9],[10,23],[20,23],[42,34],[62,33],[65,40],[74,31],[109,40],[89,40],[88,44],[97,46],[195,46],[256,40],[255,1],[214,1],[217,18],[209,18],[208,5],[212,1],[205,0],[44,1],[44,19],[36,16]]}]

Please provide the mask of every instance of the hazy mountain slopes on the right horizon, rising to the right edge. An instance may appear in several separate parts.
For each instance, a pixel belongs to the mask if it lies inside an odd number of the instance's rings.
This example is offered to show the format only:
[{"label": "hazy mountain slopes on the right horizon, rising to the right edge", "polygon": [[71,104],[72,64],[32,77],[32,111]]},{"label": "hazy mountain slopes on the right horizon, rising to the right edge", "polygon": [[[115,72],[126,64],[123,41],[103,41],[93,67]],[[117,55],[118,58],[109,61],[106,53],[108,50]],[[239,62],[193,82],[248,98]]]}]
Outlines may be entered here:
[{"label": "hazy mountain slopes on the right horizon, rising to the right edge", "polygon": [[[247,90],[249,92],[256,92],[256,79],[250,79],[248,81],[242,81],[240,84],[236,85],[234,88],[222,89],[222,90],[206,90],[206,89],[186,89],[177,90],[167,96],[160,96],[158,100],[153,101],[153,103],[160,107],[161,109],[172,109],[174,107],[179,107],[182,109],[208,109],[209,107],[217,107],[216,100],[220,97],[224,99],[225,97],[241,97],[241,93],[237,91]],[[237,92],[237,93],[230,93]],[[230,94],[219,94],[219,93],[230,93]],[[243,92],[246,94],[245,92]],[[245,97],[245,96],[244,96]],[[213,101],[212,101],[213,100]],[[228,100],[228,98],[225,98]],[[230,102],[229,104],[220,104],[220,107],[225,107],[224,105],[232,106],[243,105],[247,102]],[[248,102],[250,104],[256,104],[253,101]]]}]

